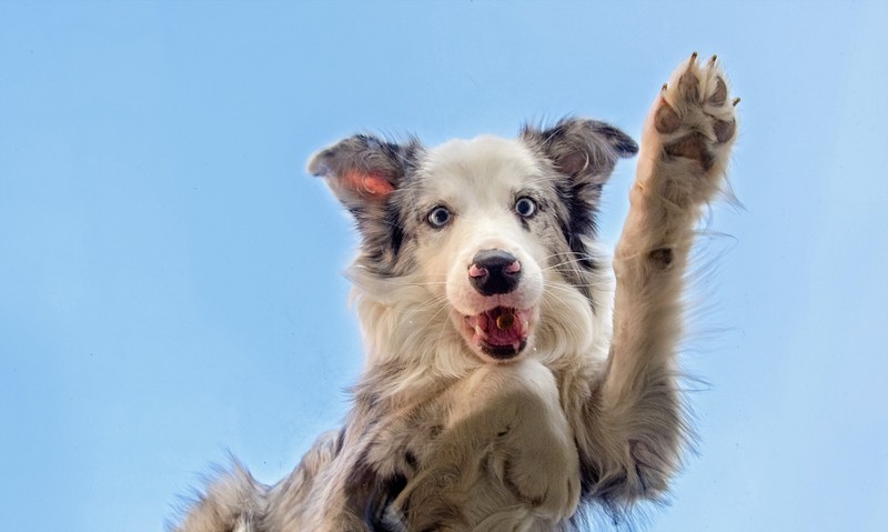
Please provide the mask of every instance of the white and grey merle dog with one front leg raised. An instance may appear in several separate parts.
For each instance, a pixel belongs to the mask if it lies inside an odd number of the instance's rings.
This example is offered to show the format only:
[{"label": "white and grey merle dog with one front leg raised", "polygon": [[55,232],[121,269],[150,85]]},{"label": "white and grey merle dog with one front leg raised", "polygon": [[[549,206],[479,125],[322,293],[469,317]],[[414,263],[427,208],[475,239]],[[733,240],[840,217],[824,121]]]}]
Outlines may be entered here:
[{"label": "white and grey merle dog with one front leg raised", "polygon": [[[696,53],[635,141],[567,118],[425,148],[359,134],[314,154],[361,234],[366,365],[342,429],[273,486],[244,469],[175,530],[581,530],[667,491],[687,441],[676,344],[700,212],[736,138]],[[614,259],[601,194],[638,153]]]}]

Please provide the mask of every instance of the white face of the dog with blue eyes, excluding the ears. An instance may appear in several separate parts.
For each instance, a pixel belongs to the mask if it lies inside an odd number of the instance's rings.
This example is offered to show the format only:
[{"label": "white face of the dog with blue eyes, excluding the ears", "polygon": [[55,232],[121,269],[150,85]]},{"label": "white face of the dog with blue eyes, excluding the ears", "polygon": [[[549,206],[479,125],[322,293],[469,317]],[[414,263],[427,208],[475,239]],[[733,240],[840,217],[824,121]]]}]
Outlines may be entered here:
[{"label": "white face of the dog with blue eyes, excluding the ears", "polygon": [[554,190],[519,141],[482,137],[428,152],[421,170],[417,267],[446,294],[451,320],[480,357],[503,361],[531,340],[543,295]]}]

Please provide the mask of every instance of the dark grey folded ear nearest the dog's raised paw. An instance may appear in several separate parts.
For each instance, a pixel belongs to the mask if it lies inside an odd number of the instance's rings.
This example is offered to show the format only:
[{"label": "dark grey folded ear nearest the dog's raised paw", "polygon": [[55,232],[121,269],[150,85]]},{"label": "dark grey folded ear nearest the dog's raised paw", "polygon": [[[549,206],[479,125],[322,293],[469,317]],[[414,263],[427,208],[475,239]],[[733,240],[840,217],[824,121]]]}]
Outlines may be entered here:
[{"label": "dark grey folded ear nearest the dog's raised paw", "polygon": [[521,139],[583,184],[604,184],[619,158],[638,153],[629,135],[595,120],[568,118],[548,129],[525,126]]}]

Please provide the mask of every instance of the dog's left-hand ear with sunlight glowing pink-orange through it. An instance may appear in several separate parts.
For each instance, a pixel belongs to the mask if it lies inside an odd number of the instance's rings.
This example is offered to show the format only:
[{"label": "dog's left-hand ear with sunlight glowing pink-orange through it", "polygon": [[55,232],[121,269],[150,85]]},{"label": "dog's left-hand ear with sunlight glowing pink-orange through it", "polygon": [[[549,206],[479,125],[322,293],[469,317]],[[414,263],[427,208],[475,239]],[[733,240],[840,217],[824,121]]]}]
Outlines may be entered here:
[{"label": "dog's left-hand ear with sunlight glowing pink-orange through it", "polygon": [[340,201],[357,214],[385,203],[420,151],[415,139],[396,144],[356,134],[312,155],[309,172],[325,178]]}]

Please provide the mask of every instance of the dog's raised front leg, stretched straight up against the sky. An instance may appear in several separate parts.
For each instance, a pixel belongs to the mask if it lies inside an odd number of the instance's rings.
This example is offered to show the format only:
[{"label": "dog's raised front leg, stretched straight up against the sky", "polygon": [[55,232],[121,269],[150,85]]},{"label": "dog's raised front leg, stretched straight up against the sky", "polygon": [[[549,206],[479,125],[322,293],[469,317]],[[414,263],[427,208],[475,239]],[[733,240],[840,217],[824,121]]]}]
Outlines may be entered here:
[{"label": "dog's raised front leg, stretched straight up against the sky", "polygon": [[678,462],[676,383],[688,253],[702,209],[724,184],[734,106],[715,58],[696,53],[664,86],[645,124],[628,219],[614,259],[614,333],[587,414],[586,493],[614,504],[656,498]]}]

